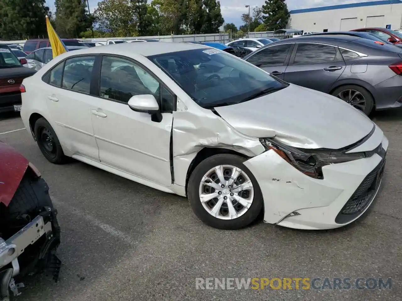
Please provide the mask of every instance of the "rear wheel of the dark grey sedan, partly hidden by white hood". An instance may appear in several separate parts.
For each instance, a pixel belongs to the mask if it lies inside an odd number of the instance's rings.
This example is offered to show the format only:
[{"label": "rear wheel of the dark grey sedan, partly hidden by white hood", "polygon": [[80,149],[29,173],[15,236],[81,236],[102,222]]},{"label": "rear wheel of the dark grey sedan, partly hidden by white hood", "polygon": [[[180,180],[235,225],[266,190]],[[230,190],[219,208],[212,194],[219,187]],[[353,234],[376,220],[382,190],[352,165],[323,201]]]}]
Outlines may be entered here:
[{"label": "rear wheel of the dark grey sedan, partly hidden by white hood", "polygon": [[332,95],[361,110],[366,115],[369,115],[374,108],[373,96],[358,85],[340,86],[332,92]]}]

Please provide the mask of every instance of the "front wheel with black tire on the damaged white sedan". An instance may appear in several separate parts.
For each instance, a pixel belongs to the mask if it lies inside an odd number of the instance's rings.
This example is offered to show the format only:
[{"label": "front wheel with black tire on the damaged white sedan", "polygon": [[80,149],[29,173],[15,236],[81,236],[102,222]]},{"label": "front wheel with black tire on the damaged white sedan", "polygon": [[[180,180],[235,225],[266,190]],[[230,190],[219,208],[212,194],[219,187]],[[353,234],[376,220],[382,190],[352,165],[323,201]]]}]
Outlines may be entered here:
[{"label": "front wheel with black tire on the damaged white sedan", "polygon": [[244,161],[237,155],[213,155],[191,173],[188,199],[195,215],[205,224],[238,230],[258,218],[263,196]]}]

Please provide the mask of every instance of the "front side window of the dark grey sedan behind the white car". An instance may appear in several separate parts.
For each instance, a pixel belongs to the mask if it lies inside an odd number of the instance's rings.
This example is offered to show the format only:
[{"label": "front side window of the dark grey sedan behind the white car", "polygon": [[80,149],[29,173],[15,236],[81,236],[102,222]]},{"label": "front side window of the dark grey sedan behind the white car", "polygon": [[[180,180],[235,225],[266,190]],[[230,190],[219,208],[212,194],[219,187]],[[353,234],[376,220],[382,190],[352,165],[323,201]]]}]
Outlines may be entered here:
[{"label": "front side window of the dark grey sedan behind the white car", "polygon": [[283,44],[261,49],[247,59],[258,67],[283,66],[292,44]]}]

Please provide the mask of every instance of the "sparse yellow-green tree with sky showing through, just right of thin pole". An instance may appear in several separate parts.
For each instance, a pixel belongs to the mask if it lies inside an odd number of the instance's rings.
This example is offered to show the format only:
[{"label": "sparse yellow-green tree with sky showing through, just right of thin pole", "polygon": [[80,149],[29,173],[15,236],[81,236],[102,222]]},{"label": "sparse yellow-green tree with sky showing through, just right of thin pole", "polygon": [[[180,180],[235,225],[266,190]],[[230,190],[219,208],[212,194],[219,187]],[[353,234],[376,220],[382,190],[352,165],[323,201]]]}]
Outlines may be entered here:
[{"label": "sparse yellow-green tree with sky showing through, just right of thin pole", "polygon": [[135,15],[130,0],[103,0],[98,3],[94,15],[98,29],[113,37],[135,35]]}]

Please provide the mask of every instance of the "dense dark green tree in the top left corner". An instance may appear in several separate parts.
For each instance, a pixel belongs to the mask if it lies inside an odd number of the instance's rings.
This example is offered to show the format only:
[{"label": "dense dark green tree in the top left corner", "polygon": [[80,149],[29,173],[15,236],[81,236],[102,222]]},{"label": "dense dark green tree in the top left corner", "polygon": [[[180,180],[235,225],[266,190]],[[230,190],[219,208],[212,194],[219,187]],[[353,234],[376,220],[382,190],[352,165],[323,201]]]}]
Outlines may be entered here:
[{"label": "dense dark green tree in the top left corner", "polygon": [[45,0],[0,0],[0,38],[2,40],[47,36]]}]

